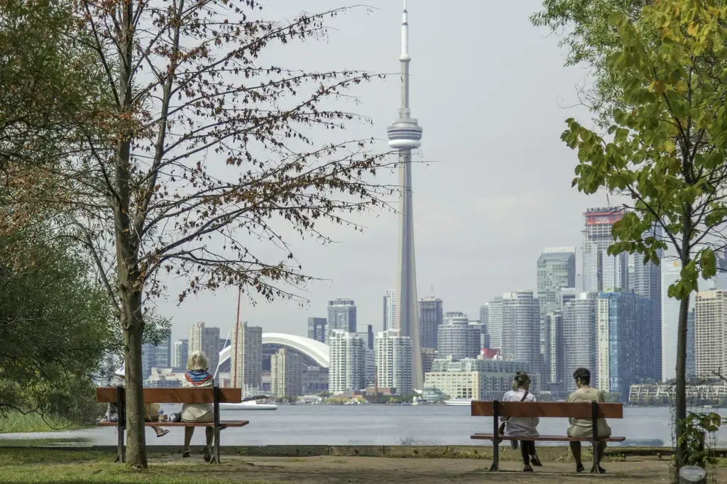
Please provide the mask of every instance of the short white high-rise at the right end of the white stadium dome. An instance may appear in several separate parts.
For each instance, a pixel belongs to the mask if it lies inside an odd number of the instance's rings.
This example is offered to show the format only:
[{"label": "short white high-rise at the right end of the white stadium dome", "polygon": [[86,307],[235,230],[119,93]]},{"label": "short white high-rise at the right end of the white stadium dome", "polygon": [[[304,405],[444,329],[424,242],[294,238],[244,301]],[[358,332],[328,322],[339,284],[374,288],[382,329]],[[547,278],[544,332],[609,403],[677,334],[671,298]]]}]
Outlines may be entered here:
[{"label": "short white high-rise at the right end of the white stadium dome", "polygon": [[366,344],[356,333],[334,330],[328,336],[329,391],[340,394],[366,386]]}]

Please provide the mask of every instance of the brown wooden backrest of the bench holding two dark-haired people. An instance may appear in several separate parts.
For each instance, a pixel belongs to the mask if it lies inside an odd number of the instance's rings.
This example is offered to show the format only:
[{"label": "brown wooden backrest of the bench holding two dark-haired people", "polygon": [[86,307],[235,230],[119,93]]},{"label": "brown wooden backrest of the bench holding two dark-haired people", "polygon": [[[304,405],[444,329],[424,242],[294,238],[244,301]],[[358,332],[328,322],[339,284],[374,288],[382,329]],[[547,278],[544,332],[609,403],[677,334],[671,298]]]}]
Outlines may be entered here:
[{"label": "brown wooden backrest of the bench holding two dark-haired people", "polygon": [[[472,416],[494,416],[495,402],[473,402]],[[623,419],[622,403],[598,403],[598,418]],[[497,402],[498,416],[593,418],[591,403],[567,402]]]}]

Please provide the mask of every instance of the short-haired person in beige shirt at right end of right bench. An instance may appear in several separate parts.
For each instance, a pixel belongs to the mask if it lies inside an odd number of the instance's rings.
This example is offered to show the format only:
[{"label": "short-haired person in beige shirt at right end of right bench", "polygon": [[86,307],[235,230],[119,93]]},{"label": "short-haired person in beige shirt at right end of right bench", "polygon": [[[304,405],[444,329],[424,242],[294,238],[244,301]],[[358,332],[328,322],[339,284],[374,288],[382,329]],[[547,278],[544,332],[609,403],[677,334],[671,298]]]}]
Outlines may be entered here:
[{"label": "short-haired person in beige shirt at right end of right bench", "polygon": [[[569,403],[591,403],[593,400],[596,403],[606,403],[606,398],[603,396],[603,391],[597,390],[590,386],[590,371],[588,368],[578,368],[573,373],[573,378],[576,380],[576,387],[578,390],[568,395]],[[593,438],[593,421],[591,419],[568,419],[570,427],[568,428],[569,437],[577,438]],[[611,427],[606,424],[606,419],[598,419],[596,422],[598,437],[606,438],[611,437]],[[593,449],[595,452],[596,449]],[[603,453],[606,451],[606,443],[598,443],[598,462],[603,459]],[[576,472],[583,472],[583,462],[581,461],[581,443],[571,442],[571,452],[573,458],[576,461]],[[598,466],[598,470],[603,474],[606,470]],[[591,471],[593,472],[593,471]]]}]

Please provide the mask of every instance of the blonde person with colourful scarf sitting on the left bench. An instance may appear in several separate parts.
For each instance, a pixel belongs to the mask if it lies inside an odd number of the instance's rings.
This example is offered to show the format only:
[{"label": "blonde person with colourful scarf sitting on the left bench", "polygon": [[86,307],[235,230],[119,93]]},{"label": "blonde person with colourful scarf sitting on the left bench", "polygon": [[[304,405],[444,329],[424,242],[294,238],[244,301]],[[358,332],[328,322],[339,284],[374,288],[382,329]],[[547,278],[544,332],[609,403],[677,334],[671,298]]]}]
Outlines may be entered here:
[{"label": "blonde person with colourful scarf sitting on the left bench", "polygon": [[[214,377],[209,374],[209,363],[204,352],[196,351],[189,355],[187,361],[187,373],[182,380],[182,388],[213,387]],[[182,404],[182,422],[214,422],[214,410],[212,403]],[[204,447],[204,461],[212,462],[212,438],[214,428],[204,428],[206,446]],[[194,435],[194,427],[184,429],[184,448],[182,448],[182,459],[190,456],[189,445]]]}]

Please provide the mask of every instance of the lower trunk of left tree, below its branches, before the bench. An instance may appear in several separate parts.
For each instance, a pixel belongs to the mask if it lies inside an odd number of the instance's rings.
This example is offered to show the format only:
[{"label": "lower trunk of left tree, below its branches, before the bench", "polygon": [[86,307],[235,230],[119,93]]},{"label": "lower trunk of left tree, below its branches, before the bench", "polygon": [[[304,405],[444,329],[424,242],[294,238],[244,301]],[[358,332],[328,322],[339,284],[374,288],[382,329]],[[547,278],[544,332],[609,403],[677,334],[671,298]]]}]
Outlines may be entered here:
[{"label": "lower trunk of left tree, below its branches, before the bench", "polygon": [[126,367],[126,462],[132,469],[145,469],[146,435],[144,427],[144,388],[142,374],[142,319],[141,294],[137,291],[125,296],[124,356]]}]

